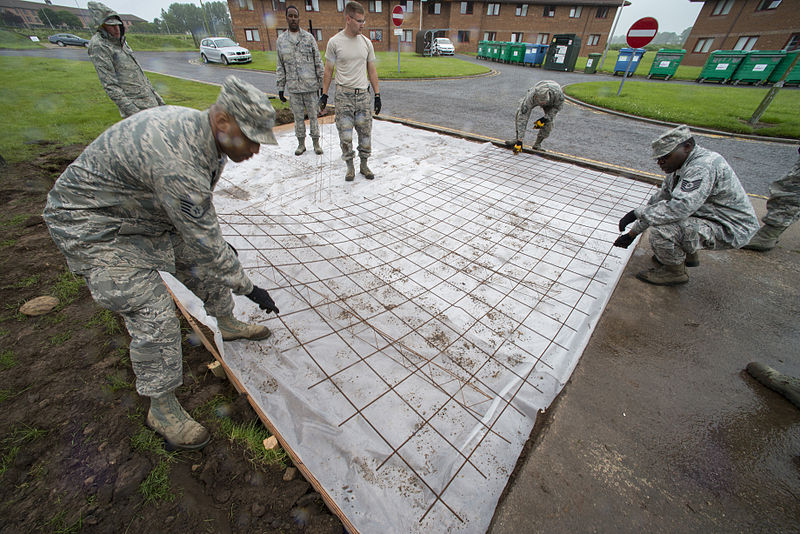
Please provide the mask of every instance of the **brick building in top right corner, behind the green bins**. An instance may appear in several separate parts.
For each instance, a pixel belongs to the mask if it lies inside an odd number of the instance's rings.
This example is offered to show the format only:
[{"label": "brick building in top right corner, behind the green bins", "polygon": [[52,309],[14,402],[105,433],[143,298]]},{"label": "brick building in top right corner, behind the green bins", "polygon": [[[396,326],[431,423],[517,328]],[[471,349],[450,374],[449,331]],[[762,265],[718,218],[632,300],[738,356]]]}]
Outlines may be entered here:
[{"label": "brick building in top right corner, behind the green bins", "polygon": [[714,50],[797,50],[800,0],[689,0],[703,2],[682,64],[700,66]]}]

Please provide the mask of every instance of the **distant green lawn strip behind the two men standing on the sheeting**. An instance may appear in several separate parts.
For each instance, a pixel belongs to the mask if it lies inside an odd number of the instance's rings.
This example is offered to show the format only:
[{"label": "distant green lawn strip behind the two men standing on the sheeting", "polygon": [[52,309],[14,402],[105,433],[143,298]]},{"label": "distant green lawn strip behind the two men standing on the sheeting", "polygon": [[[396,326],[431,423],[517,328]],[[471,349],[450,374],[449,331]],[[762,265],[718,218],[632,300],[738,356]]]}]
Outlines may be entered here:
[{"label": "distant green lawn strip behind the two men standing on the sheeting", "polygon": [[[233,68],[275,71],[275,52],[251,51],[253,61],[245,65],[232,65]],[[322,52],[325,61],[325,52]],[[378,77],[381,79],[439,78],[447,76],[471,76],[485,74],[492,67],[476,65],[454,57],[422,57],[414,52],[400,52],[400,72],[397,72],[397,52],[375,52]]]}]

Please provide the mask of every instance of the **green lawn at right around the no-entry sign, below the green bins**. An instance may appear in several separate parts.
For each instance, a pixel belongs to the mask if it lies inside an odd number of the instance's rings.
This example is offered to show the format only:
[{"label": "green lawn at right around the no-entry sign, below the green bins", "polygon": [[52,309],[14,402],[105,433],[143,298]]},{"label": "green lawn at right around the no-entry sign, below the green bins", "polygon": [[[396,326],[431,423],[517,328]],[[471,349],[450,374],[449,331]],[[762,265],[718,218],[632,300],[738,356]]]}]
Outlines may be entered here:
[{"label": "green lawn at right around the no-entry sign, below the green bins", "polygon": [[[622,78],[620,78],[620,81]],[[747,120],[769,89],[644,83],[626,80],[572,84],[564,91],[578,100],[632,115],[735,133],[800,138],[800,91],[782,89],[753,129]]]}]

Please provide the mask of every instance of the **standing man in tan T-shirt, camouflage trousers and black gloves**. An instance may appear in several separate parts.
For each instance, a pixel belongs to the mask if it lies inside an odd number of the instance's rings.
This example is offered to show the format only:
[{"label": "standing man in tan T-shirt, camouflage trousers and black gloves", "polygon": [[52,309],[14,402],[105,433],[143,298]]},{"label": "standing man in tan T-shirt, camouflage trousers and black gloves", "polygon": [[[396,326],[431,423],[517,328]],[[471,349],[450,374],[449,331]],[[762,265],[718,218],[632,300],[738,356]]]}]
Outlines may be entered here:
[{"label": "standing man in tan T-shirt, camouflage trousers and black gloves", "polygon": [[344,30],[328,40],[325,51],[325,76],[322,81],[320,110],[328,104],[328,88],[336,67],[336,129],[339,130],[339,144],[342,159],[347,163],[344,179],[353,181],[356,176],[353,167],[353,127],[358,133],[358,155],[361,158],[360,172],[367,180],[375,174],[367,166],[372,154],[372,112],[369,86],[375,91],[375,115],[381,112],[381,93],[378,89],[378,71],[375,69],[375,49],[372,42],[361,34],[367,21],[364,6],[358,2],[347,2],[344,7]]}]

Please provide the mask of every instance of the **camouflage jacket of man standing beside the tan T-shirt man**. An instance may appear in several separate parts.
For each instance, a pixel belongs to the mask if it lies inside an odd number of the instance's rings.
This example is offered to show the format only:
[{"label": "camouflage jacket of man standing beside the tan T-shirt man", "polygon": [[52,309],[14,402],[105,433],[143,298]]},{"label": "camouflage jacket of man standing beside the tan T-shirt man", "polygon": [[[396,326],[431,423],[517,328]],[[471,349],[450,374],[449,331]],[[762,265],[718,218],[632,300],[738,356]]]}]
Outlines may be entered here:
[{"label": "camouflage jacket of man standing beside the tan T-shirt man", "polygon": [[289,93],[315,93],[322,88],[322,66],[317,41],[314,36],[301,29],[300,40],[293,43],[289,39],[290,31],[286,30],[278,36],[275,48],[278,51],[278,66],[275,82],[279,91]]}]

